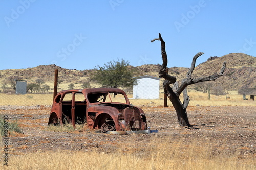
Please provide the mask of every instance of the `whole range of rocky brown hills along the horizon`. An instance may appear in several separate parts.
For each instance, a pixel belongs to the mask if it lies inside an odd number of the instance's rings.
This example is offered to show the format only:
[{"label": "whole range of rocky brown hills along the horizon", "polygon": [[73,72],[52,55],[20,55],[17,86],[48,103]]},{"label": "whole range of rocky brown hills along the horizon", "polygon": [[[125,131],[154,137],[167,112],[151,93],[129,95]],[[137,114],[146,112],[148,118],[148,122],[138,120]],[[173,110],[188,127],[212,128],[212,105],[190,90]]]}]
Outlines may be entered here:
[{"label": "whole range of rocky brown hills along the horizon", "polygon": [[[256,88],[256,58],[243,53],[230,53],[222,57],[210,57],[195,68],[193,76],[196,78],[219,72],[224,61],[227,62],[224,76],[217,79],[215,81],[216,84],[222,85],[226,90]],[[159,67],[159,64],[147,64],[133,68],[138,70],[136,76],[150,75],[158,77]],[[0,82],[5,81],[10,76],[16,76],[31,82],[35,82],[36,79],[42,79],[46,83],[53,83],[55,69],[58,69],[59,80],[76,84],[89,81],[89,76],[94,72],[94,70],[70,70],[56,65],[39,65],[34,68],[0,70]],[[169,74],[176,76],[178,81],[186,76],[187,70],[188,68],[178,67],[168,69]]]}]

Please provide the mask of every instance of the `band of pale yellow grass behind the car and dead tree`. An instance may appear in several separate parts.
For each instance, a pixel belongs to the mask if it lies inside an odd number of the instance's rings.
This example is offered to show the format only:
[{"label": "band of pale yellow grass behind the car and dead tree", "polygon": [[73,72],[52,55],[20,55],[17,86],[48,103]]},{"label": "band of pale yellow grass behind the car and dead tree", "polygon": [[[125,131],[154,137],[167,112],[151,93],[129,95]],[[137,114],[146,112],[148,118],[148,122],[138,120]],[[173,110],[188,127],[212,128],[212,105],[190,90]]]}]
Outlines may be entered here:
[{"label": "band of pale yellow grass behind the car and dead tree", "polygon": [[[188,92],[190,96],[189,106],[256,106],[256,101],[243,100],[243,96],[234,91],[228,95],[215,96],[211,95],[211,100],[208,100],[208,94],[202,92]],[[131,99],[132,94],[128,95],[130,103],[136,106],[162,106],[163,93],[160,93],[160,99]],[[230,99],[226,99],[229,96]],[[248,96],[247,96],[248,97]],[[183,96],[181,95],[181,99]],[[8,95],[0,94],[0,105],[52,105],[53,94],[25,94],[25,95]],[[121,100],[120,100],[121,101]],[[168,105],[172,103],[168,100]]]}]

